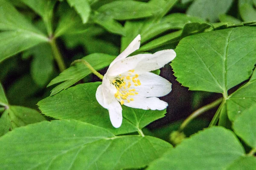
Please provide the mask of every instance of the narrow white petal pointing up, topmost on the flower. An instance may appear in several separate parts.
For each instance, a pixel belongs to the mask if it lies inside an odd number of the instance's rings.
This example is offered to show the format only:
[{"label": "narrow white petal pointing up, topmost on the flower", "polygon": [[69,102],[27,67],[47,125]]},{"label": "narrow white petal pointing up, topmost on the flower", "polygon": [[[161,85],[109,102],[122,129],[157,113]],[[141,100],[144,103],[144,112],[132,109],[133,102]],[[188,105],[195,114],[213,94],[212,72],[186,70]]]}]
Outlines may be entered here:
[{"label": "narrow white petal pointing up, topmost on the flower", "polygon": [[113,60],[113,62],[111,62],[109,67],[111,67],[119,59],[124,59],[125,57],[128,57],[128,55],[130,55],[131,53],[133,53],[134,51],[136,51],[139,48],[140,48],[140,34],[137,35],[137,37],[134,38],[134,40],[128,45],[128,47],[125,48],[125,50],[121,54],[119,54]]}]

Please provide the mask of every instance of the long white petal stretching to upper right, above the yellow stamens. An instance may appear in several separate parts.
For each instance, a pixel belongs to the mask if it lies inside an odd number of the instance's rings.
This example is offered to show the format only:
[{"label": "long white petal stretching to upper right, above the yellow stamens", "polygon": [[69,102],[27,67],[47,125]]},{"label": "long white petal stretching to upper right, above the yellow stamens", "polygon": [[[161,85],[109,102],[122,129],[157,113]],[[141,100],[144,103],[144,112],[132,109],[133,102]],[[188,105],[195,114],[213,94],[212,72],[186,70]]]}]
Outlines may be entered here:
[{"label": "long white petal stretching to upper right, above the yellow stamens", "polygon": [[138,54],[120,59],[108,69],[108,76],[123,74],[129,70],[135,70],[137,74],[162,68],[176,57],[174,50],[157,51],[154,54]]}]

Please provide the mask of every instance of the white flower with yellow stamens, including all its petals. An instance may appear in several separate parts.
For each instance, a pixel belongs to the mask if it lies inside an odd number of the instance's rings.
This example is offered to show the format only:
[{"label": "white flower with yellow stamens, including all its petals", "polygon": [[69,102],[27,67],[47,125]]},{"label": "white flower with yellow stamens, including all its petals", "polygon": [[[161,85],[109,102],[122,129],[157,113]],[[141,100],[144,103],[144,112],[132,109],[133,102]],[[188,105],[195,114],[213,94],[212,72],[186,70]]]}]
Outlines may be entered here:
[{"label": "white flower with yellow stamens, including all its petals", "polygon": [[128,57],[140,48],[140,35],[109,65],[102,85],[96,91],[96,99],[108,109],[113,127],[122,124],[122,107],[144,110],[163,110],[168,104],[157,97],[172,90],[172,84],[149,71],[162,68],[176,57],[174,50],[157,51],[154,54],[137,54]]}]

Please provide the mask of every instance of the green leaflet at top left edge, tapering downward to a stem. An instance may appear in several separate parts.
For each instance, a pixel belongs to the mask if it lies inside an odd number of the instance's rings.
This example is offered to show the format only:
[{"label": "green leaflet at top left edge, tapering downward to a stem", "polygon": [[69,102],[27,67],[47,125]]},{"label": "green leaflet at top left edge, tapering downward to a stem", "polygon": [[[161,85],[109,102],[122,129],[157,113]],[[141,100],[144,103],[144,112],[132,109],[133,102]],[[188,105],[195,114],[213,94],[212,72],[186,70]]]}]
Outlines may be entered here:
[{"label": "green leaflet at top left edge, tapering downward to a stem", "polygon": [[45,25],[49,34],[52,34],[52,13],[53,8],[56,3],[55,0],[20,0],[27,6],[32,8],[36,13],[38,13],[44,20]]}]

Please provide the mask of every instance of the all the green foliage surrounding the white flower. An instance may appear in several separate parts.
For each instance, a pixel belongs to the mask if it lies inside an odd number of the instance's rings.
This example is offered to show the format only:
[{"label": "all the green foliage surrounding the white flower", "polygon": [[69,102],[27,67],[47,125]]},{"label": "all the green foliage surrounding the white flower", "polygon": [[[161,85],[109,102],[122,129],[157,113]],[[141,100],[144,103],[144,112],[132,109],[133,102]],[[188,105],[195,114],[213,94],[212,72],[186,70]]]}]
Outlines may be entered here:
[{"label": "all the green foliage surrounding the white flower", "polygon": [[[0,0],[0,169],[255,170],[255,26],[255,0]],[[69,65],[104,74],[138,34],[134,54],[175,50],[173,90],[116,129]]]}]

